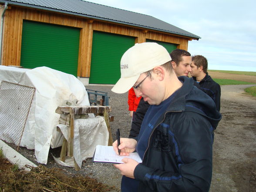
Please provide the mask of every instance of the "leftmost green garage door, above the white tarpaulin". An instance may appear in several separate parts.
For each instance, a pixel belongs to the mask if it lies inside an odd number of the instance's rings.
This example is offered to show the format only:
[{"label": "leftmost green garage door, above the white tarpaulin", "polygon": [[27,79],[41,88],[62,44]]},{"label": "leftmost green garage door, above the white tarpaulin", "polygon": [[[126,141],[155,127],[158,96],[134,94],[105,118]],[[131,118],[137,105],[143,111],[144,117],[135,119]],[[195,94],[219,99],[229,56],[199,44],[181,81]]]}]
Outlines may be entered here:
[{"label": "leftmost green garage door, above the white tarpaulin", "polygon": [[50,67],[77,77],[80,29],[24,20],[20,65]]}]

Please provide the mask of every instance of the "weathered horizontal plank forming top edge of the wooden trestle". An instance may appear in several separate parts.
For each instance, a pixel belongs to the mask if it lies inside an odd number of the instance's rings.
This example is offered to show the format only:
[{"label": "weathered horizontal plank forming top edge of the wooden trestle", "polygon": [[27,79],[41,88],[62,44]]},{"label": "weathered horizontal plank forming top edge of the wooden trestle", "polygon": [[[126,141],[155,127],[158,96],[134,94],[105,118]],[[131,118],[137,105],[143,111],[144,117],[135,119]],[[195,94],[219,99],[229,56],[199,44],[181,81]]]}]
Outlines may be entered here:
[{"label": "weathered horizontal plank forming top edge of the wooden trestle", "polygon": [[111,106],[58,106],[55,110],[58,114],[68,114],[73,111],[73,114],[88,114],[88,113],[104,113],[104,111],[111,111]]}]

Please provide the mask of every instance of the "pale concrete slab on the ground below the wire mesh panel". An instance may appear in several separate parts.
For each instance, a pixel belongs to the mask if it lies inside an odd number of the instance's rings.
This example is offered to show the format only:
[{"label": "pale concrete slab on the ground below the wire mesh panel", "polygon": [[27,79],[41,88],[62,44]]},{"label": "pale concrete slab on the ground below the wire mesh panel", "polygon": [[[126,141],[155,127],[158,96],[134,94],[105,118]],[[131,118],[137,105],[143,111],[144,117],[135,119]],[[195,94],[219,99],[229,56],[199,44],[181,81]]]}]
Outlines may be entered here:
[{"label": "pale concrete slab on the ground below the wire mesh panel", "polygon": [[0,140],[0,149],[3,150],[4,157],[7,158],[8,161],[11,162],[13,165],[17,164],[20,169],[24,168],[26,171],[30,171],[30,168],[26,168],[25,165],[30,165],[32,167],[37,167],[37,165],[30,162],[23,155],[20,155],[20,153],[15,151],[13,148],[11,148],[9,145],[7,145],[2,140]]}]

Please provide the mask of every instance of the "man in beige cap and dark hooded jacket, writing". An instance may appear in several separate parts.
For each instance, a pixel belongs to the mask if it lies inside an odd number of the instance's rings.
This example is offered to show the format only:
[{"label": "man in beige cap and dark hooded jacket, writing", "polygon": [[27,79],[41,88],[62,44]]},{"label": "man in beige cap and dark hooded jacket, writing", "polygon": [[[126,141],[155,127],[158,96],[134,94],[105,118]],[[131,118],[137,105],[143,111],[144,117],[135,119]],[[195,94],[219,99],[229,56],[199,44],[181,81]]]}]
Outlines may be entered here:
[{"label": "man in beige cap and dark hooded jacket, writing", "polygon": [[114,165],[124,175],[122,192],[208,192],[212,178],[212,138],[221,115],[211,98],[177,77],[171,57],[156,43],[135,44],[121,58],[121,78],[112,91],[134,88],[151,105],[138,140],[113,143],[121,155],[137,151],[139,164],[124,158]]}]

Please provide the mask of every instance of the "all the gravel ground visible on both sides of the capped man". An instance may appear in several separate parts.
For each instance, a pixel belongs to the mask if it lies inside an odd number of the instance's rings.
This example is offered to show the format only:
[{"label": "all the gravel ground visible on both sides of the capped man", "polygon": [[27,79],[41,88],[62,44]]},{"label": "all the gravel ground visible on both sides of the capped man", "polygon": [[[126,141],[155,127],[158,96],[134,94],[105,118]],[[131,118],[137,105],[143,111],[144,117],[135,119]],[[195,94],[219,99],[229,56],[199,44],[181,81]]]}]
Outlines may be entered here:
[{"label": "all the gravel ground visible on both sides of the capped man", "polygon": [[[256,99],[243,94],[243,89],[251,85],[221,86],[222,120],[215,131],[213,175],[210,192],[255,192],[256,186]],[[254,85],[255,86],[255,85]],[[128,137],[131,118],[128,115],[128,94],[115,94],[112,86],[86,86],[87,89],[108,92],[112,108],[110,122],[113,139],[120,128],[121,137]],[[34,150],[21,148],[20,153],[36,162]],[[83,162],[78,172],[54,162],[51,153],[58,157],[60,148],[50,149],[48,168],[60,167],[71,174],[89,175],[99,182],[116,186],[120,190],[121,174],[111,164]]]}]

